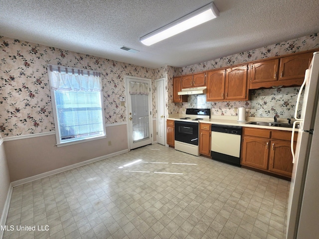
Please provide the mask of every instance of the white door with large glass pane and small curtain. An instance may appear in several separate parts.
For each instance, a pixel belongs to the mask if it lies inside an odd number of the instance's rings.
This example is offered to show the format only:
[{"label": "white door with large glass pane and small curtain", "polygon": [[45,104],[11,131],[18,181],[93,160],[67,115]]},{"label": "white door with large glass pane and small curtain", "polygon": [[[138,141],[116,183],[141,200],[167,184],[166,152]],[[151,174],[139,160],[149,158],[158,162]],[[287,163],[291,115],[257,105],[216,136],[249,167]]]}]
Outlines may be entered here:
[{"label": "white door with large glass pane and small curtain", "polygon": [[151,80],[126,77],[130,149],[152,143]]}]

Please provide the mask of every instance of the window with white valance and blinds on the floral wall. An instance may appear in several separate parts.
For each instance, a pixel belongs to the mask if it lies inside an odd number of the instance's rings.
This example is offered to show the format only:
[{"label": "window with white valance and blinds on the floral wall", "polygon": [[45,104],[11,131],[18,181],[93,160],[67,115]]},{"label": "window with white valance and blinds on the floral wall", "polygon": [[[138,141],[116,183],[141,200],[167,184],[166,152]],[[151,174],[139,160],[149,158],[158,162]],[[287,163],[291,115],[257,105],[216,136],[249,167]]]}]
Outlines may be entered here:
[{"label": "window with white valance and blinds on the floral wall", "polygon": [[101,73],[48,67],[58,146],[105,137]]}]

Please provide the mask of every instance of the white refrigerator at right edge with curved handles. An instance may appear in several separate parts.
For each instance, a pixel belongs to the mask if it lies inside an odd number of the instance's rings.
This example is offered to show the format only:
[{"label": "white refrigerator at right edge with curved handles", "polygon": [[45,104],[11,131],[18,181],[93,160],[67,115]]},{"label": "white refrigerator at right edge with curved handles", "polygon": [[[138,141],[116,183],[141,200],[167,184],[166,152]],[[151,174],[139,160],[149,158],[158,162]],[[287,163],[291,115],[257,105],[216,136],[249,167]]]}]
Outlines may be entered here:
[{"label": "white refrigerator at right edge with curved handles", "polygon": [[[299,99],[304,93],[301,114]],[[300,89],[294,130],[298,130],[293,152],[293,174],[290,184],[287,239],[319,239],[319,52],[315,52]],[[295,129],[299,124],[299,129]],[[292,139],[293,146],[293,139]]]}]

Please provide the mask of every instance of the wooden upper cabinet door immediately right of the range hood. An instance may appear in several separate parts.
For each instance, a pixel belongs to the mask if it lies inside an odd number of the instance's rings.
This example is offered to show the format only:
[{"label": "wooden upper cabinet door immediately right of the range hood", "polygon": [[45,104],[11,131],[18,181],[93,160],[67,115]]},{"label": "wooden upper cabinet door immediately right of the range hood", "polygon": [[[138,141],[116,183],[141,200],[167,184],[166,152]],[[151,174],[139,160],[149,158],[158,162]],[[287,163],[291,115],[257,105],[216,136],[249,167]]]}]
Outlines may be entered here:
[{"label": "wooden upper cabinet door immediately right of the range hood", "polygon": [[225,95],[225,69],[207,72],[207,101],[223,101]]}]

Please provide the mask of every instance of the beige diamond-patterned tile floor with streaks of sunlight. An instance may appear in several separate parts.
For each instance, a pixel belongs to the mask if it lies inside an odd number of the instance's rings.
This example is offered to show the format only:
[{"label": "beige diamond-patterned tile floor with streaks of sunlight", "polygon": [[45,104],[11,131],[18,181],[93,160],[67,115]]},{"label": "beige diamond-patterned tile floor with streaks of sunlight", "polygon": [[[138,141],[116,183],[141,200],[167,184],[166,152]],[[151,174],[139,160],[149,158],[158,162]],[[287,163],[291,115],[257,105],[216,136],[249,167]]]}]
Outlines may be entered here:
[{"label": "beige diamond-patterned tile floor with streaks of sunlight", "polygon": [[13,188],[4,239],[283,239],[288,192],[154,144]]}]

